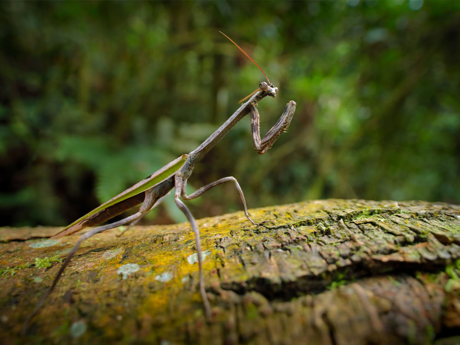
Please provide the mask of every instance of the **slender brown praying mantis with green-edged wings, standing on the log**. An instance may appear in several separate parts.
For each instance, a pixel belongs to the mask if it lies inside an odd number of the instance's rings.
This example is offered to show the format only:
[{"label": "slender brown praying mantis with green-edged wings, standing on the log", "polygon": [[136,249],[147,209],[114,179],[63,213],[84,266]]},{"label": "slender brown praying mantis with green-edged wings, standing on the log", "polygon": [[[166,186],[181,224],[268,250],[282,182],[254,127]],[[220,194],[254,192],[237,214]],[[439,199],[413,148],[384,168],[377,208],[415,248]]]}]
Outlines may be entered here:
[{"label": "slender brown praying mantis with green-edged wings, standing on the log", "polygon": [[[266,76],[265,72],[262,68],[254,61],[243,49],[239,47],[231,38],[229,38],[224,33],[220,32],[230,41],[232,41],[236,47],[243,52],[252,62],[254,62],[257,67],[259,67],[260,71],[263,73],[267,82],[263,81],[260,83],[259,88],[254,91],[251,95],[249,95],[249,99],[241,104],[241,106],[233,113],[231,117],[228,118],[213,134],[211,134],[208,139],[206,139],[198,148],[193,150],[188,154],[183,154],[180,157],[174,159],[172,162],[168,163],[163,168],[159,169],[158,171],[154,172],[149,177],[137,182],[134,186],[128,188],[127,190],[123,191],[119,195],[111,198],[107,202],[103,203],[102,205],[98,206],[93,211],[89,212],[88,214],[84,215],[83,217],[77,219],[72,224],[66,226],[62,231],[54,235],[52,238],[58,238],[66,235],[73,234],[82,230],[88,226],[95,226],[99,225],[118,214],[131,209],[133,206],[141,204],[139,211],[136,213],[113,223],[97,226],[93,229],[90,229],[88,232],[83,234],[78,241],[75,243],[74,247],[63,261],[54,281],[48,291],[44,294],[42,299],[40,300],[39,304],[26,320],[25,328],[30,321],[30,319],[37,313],[37,311],[43,306],[46,298],[51,294],[51,292],[56,287],[59,278],[61,277],[62,273],[64,272],[67,265],[70,263],[70,260],[74,256],[75,252],[78,250],[80,244],[99,233],[102,233],[108,229],[112,229],[124,224],[129,224],[129,226],[134,225],[140,219],[142,219],[150,210],[155,208],[166,195],[174,189],[174,201],[177,207],[186,215],[187,219],[189,220],[192,231],[195,235],[195,245],[196,251],[198,255],[198,270],[199,270],[199,291],[203,300],[204,311],[206,315],[206,319],[210,320],[212,317],[210,303],[208,301],[208,297],[206,296],[206,292],[204,289],[204,278],[203,278],[203,271],[202,271],[202,257],[201,257],[201,243],[200,243],[200,234],[198,225],[196,223],[195,218],[193,217],[192,213],[186,206],[186,204],[182,200],[191,200],[199,197],[204,192],[214,188],[218,185],[221,185],[224,182],[234,182],[235,186],[239,192],[243,210],[246,218],[254,225],[261,225],[261,223],[256,223],[253,221],[248,214],[246,201],[244,198],[243,191],[237,181],[237,179],[233,176],[223,177],[218,179],[217,181],[211,182],[208,185],[205,185],[198,189],[197,191],[187,195],[186,193],[186,186],[187,180],[191,176],[195,165],[203,158],[203,156],[208,153],[221,139],[222,137],[231,130],[246,114],[250,113],[251,118],[251,132],[252,132],[252,142],[254,144],[254,148],[257,153],[263,154],[268,149],[272,147],[275,141],[277,141],[278,137],[281,135],[283,131],[289,126],[294,111],[295,111],[295,102],[289,101],[286,104],[283,114],[279,118],[279,120],[273,125],[273,127],[265,134],[265,136],[261,139],[260,137],[260,127],[259,127],[259,111],[257,110],[257,104],[263,98],[270,96],[276,97],[278,93],[278,88],[273,86],[273,84],[269,81],[268,77]],[[244,99],[243,99],[244,100]],[[129,228],[128,226],[128,228]],[[126,231],[126,230],[125,230]]]}]

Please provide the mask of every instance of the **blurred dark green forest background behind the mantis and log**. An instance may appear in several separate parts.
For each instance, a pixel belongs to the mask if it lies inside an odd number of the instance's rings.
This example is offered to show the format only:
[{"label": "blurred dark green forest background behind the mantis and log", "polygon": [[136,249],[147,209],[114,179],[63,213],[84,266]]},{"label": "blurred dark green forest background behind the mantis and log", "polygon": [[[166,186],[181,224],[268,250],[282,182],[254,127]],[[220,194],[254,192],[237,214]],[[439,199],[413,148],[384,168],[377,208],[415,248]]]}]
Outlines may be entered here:
[{"label": "blurred dark green forest background behind the mantis and log", "polygon": [[[280,89],[262,135],[297,110],[264,155],[243,119],[192,188],[460,203],[460,2],[1,2],[0,225],[65,225],[195,149],[264,80],[218,30]],[[232,184],[188,204],[241,210]]]}]

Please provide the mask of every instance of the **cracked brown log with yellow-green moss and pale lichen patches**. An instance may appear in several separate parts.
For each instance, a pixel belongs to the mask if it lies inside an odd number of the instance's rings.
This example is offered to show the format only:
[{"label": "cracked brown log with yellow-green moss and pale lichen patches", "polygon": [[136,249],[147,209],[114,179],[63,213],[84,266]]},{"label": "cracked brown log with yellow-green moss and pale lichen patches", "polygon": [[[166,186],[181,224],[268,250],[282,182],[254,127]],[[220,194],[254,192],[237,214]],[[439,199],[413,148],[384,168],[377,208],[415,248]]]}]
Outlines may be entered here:
[{"label": "cracked brown log with yellow-green moss and pale lichen patches", "polygon": [[25,335],[78,235],[0,229],[2,342],[460,343],[460,206],[322,200],[250,214],[268,221],[251,225],[242,212],[198,221],[210,323],[182,223],[83,242]]}]

